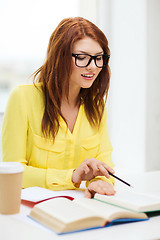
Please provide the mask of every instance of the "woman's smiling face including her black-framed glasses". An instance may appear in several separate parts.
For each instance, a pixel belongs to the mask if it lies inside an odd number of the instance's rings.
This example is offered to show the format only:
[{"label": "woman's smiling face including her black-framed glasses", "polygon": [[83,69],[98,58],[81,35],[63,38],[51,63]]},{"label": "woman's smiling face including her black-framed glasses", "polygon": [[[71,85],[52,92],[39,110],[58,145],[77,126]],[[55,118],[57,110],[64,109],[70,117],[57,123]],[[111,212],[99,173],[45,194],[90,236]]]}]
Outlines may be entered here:
[{"label": "woman's smiling face including her black-framed glasses", "polygon": [[[97,78],[98,74],[102,70],[97,67],[97,52],[101,52],[101,58],[103,57],[103,50],[99,43],[90,37],[84,37],[78,40],[73,45],[72,57],[75,58],[73,61],[72,74],[70,76],[70,91],[73,91],[78,96],[81,88],[89,88]],[[83,54],[81,54],[83,52]],[[84,54],[87,53],[87,54]],[[76,54],[75,54],[76,53]],[[90,57],[93,54],[93,57]],[[93,61],[93,59],[95,59]],[[74,59],[73,59],[74,60]]]}]

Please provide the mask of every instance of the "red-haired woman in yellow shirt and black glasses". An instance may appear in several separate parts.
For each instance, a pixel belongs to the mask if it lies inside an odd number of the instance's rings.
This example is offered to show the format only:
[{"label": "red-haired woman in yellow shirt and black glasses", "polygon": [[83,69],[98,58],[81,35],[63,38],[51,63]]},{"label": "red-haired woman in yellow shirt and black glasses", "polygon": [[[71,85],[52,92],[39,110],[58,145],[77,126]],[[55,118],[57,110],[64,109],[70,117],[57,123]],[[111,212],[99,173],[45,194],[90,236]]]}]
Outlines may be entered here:
[{"label": "red-haired woman in yellow shirt and black glasses", "polygon": [[90,21],[60,22],[34,85],[13,90],[2,129],[3,161],[24,164],[23,187],[76,189],[112,195],[104,97],[110,71],[108,41]]}]

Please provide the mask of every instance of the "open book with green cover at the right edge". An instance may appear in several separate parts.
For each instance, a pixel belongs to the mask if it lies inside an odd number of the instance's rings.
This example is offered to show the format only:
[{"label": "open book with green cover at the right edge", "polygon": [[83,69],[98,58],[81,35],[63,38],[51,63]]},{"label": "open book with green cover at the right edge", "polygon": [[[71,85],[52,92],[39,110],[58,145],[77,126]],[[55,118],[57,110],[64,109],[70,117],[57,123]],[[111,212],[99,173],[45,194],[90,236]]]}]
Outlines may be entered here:
[{"label": "open book with green cover at the right edge", "polygon": [[160,196],[136,191],[119,191],[113,196],[96,193],[94,199],[137,212],[160,211]]}]

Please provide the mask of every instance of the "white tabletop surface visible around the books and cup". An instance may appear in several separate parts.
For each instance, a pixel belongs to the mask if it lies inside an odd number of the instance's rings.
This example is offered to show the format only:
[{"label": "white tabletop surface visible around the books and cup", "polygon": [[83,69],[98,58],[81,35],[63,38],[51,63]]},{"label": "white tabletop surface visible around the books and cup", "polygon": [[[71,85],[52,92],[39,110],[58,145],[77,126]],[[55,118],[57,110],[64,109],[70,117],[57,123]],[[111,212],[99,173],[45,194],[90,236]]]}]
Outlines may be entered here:
[{"label": "white tabletop surface visible around the books and cup", "polygon": [[[130,182],[138,191],[160,196],[160,171],[143,174],[121,176]],[[125,188],[124,184],[116,182],[116,188]],[[15,215],[0,215],[0,239],[3,240],[54,240],[54,239],[123,239],[123,240],[150,240],[160,239],[160,216],[152,217],[144,222],[135,222],[116,225],[108,228],[72,234],[57,235],[52,230],[32,221],[27,217],[30,208],[21,205],[20,213]]]}]

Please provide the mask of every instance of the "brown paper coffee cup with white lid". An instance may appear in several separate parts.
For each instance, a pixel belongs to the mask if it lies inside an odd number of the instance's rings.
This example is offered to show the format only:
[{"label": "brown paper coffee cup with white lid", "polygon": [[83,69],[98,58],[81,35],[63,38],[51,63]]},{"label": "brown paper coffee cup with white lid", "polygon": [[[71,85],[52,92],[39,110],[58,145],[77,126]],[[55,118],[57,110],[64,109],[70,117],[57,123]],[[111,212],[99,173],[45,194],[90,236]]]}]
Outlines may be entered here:
[{"label": "brown paper coffee cup with white lid", "polygon": [[18,162],[0,162],[0,213],[20,211],[24,167]]}]

